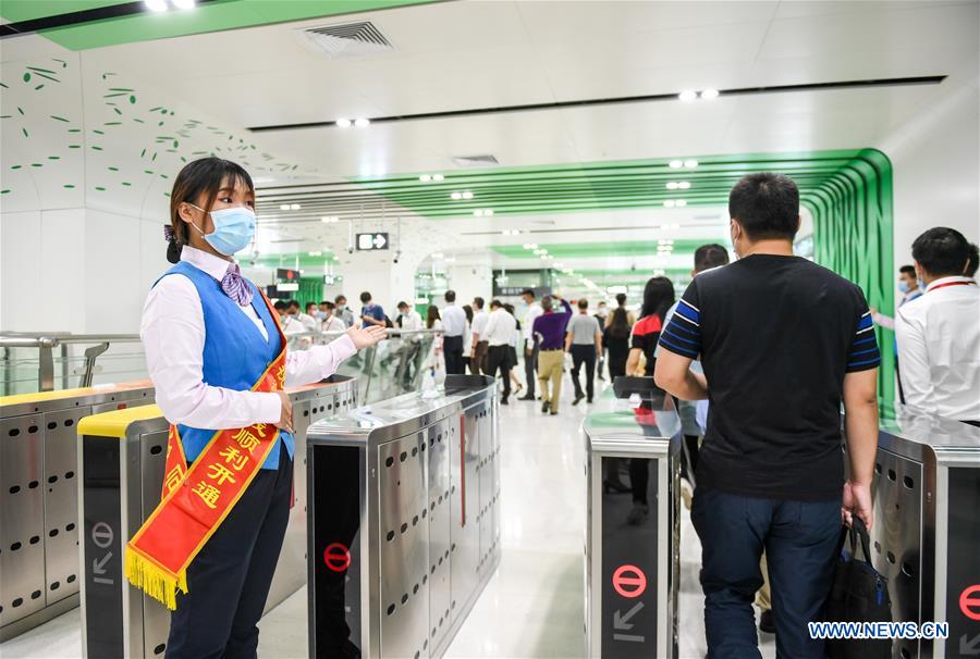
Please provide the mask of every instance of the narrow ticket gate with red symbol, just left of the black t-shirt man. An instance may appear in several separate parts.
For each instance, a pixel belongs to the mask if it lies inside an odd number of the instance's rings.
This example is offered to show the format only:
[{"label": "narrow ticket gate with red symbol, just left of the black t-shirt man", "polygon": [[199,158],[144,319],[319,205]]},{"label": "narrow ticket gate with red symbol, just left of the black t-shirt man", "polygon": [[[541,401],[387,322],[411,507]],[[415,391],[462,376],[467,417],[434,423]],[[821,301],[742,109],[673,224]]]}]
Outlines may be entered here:
[{"label": "narrow ticket gate with red symbol, just left of the black t-shirt man", "polygon": [[[673,657],[678,651],[681,420],[652,377],[617,377],[583,424],[586,443],[586,656]],[[610,493],[626,471],[646,498]]]}]

